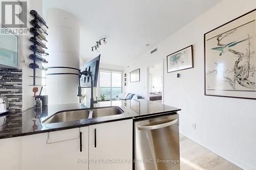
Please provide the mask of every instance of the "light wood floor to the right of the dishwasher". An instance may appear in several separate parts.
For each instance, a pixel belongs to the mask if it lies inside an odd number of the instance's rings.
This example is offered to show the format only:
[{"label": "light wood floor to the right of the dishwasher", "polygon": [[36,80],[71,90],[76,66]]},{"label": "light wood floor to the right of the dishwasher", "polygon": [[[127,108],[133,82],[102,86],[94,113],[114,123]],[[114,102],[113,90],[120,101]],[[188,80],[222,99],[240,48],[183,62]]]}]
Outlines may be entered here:
[{"label": "light wood floor to the right of the dishwasher", "polygon": [[181,170],[237,170],[240,167],[180,134]]}]

